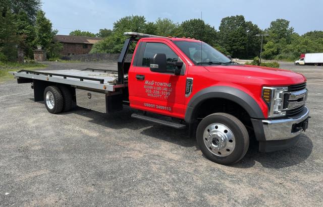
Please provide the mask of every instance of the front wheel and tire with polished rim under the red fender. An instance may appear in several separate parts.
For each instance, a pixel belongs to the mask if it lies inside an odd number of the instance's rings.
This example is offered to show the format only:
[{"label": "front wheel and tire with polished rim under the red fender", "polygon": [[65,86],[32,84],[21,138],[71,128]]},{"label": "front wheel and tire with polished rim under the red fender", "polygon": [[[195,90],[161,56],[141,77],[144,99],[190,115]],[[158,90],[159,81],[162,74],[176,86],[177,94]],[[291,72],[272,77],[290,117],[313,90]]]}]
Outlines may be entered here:
[{"label": "front wheel and tire with polished rim under the red fender", "polygon": [[207,159],[223,165],[238,162],[249,148],[246,127],[227,113],[213,113],[203,118],[197,126],[196,140]]}]

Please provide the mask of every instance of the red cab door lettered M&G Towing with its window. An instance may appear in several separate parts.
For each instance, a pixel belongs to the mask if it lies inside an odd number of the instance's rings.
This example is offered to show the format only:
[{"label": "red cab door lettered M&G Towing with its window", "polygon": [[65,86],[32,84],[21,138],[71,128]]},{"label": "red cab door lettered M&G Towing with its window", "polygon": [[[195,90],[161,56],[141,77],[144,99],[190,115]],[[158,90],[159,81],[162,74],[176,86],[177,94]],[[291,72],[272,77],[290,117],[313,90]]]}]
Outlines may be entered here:
[{"label": "red cab door lettered M&G Towing with its window", "polygon": [[[134,75],[129,86],[132,108],[184,118],[187,63],[167,41],[142,41],[137,48],[138,59],[133,64]],[[150,71],[150,61],[157,53],[166,54],[167,62],[183,61],[181,75],[174,74],[175,65],[167,64],[167,73]],[[136,65],[135,65],[136,64]],[[129,80],[130,81],[130,80]]]}]

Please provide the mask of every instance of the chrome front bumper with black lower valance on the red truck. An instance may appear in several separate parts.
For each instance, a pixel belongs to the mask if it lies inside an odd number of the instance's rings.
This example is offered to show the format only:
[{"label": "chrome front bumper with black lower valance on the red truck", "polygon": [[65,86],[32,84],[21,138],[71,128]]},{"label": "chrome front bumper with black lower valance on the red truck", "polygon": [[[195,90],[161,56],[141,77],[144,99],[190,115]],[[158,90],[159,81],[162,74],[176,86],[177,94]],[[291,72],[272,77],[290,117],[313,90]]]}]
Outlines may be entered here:
[{"label": "chrome front bumper with black lower valance on the red truck", "polygon": [[295,117],[272,120],[251,119],[261,152],[286,149],[294,145],[308,125],[309,109]]}]

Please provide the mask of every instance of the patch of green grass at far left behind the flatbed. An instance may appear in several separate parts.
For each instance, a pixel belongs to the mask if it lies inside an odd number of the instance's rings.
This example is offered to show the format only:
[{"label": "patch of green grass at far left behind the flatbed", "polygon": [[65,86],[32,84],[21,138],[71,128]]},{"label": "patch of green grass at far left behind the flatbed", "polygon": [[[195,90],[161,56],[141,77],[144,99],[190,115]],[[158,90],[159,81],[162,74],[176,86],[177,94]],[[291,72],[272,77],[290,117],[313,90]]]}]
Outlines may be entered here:
[{"label": "patch of green grass at far left behind the flatbed", "polygon": [[18,62],[0,62],[0,83],[14,79],[14,76],[8,72],[15,72],[20,70],[39,70],[39,68],[46,67],[46,64],[40,63],[18,63]]}]

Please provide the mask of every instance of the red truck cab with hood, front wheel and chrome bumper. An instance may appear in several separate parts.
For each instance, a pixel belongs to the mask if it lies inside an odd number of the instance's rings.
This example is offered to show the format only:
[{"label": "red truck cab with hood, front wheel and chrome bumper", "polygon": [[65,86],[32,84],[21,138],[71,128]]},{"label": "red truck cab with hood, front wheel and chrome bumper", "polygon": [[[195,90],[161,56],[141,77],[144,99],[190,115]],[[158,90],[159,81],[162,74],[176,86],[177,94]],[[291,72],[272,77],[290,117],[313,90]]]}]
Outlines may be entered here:
[{"label": "red truck cab with hood, front wheel and chrome bumper", "polygon": [[307,128],[303,75],[237,64],[199,40],[140,39],[128,81],[132,108],[195,127],[200,149],[214,162],[236,162],[251,136],[262,152],[284,149]]}]

